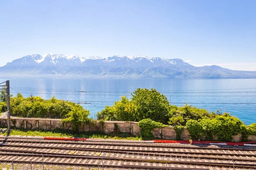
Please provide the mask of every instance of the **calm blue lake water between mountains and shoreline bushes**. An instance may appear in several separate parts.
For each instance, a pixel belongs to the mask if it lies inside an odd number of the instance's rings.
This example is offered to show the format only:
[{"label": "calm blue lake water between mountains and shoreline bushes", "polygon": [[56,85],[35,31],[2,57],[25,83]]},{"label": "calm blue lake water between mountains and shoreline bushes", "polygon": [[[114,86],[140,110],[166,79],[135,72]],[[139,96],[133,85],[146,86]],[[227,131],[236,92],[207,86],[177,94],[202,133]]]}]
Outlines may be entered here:
[{"label": "calm blue lake water between mountains and shoreline bushes", "polygon": [[[0,79],[0,82],[5,79]],[[95,118],[120,96],[155,88],[174,105],[188,103],[208,111],[230,112],[247,125],[256,122],[256,79],[10,79],[11,93],[80,103]],[[87,103],[87,104],[84,104]]]}]

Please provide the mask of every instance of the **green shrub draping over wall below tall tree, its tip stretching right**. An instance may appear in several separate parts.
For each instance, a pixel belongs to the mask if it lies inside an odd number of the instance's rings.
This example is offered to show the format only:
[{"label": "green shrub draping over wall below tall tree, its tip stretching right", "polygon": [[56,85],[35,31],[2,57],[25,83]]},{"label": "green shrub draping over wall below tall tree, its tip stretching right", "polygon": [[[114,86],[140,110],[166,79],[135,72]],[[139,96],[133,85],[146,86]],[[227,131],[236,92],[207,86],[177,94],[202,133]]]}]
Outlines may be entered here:
[{"label": "green shrub draping over wall below tall tree, its tip stretching right", "polygon": [[167,125],[164,125],[163,123],[160,122],[155,122],[151,119],[143,119],[138,123],[138,126],[141,128],[141,136],[142,137],[153,137],[151,131],[154,130],[155,128],[160,128],[160,127],[167,127]]}]

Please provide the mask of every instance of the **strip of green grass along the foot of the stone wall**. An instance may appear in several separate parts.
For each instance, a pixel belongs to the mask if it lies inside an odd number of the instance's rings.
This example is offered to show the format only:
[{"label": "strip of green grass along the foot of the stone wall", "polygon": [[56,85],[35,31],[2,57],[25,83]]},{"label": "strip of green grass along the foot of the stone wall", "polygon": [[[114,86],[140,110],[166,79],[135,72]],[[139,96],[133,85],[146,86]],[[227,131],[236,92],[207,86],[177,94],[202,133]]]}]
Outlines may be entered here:
[{"label": "strip of green grass along the foot of the stone wall", "polygon": [[[7,133],[3,133],[3,135],[7,135]],[[54,131],[12,130],[9,135],[142,140],[141,136],[132,136],[132,135],[130,135],[130,133],[119,133],[118,136],[115,136],[113,134],[106,134],[104,132],[79,132],[79,133],[74,133],[71,130],[54,130]]]}]

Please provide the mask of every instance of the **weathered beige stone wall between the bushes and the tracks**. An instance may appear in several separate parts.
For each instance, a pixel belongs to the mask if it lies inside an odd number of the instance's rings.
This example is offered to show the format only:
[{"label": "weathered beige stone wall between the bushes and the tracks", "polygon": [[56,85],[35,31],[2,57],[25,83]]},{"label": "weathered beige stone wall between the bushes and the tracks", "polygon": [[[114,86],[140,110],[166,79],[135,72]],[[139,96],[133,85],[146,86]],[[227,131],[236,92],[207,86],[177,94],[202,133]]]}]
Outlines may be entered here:
[{"label": "weathered beige stone wall between the bushes and the tracks", "polygon": [[[138,126],[138,122],[124,122],[124,121],[105,121],[103,124],[97,123],[96,125],[83,125],[79,128],[80,132],[87,131],[101,131],[103,130],[105,133],[111,134],[114,131],[114,124],[117,124],[120,132],[123,133],[131,133],[134,136],[140,136],[141,128]],[[55,130],[55,129],[65,129],[71,130],[72,124],[64,124],[62,125],[61,119],[38,119],[38,118],[19,118],[12,117],[11,118],[11,126],[12,128],[22,128],[22,129],[30,129],[30,130]],[[0,118],[0,127],[7,127],[7,119]],[[169,139],[175,140],[176,133],[175,130],[170,127],[165,128],[156,128],[152,131],[153,136],[155,138]],[[189,131],[186,129],[181,133],[182,140],[189,140]],[[204,139],[204,136],[202,137]],[[214,136],[215,140],[218,139],[217,136]],[[256,141],[256,136],[248,136],[249,141]],[[240,142],[241,141],[241,133],[233,136],[232,142]]]}]

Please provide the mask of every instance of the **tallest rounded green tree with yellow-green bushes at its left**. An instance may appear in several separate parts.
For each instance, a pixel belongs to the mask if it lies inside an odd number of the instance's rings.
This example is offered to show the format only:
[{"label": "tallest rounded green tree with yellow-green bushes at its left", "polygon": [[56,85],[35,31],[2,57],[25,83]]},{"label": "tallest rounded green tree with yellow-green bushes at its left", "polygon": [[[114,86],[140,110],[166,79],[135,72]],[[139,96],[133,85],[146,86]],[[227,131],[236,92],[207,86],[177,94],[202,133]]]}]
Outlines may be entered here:
[{"label": "tallest rounded green tree with yellow-green bushes at its left", "polygon": [[155,89],[138,88],[132,94],[131,100],[122,96],[121,100],[115,102],[113,106],[106,106],[104,110],[97,113],[97,119],[139,122],[149,118],[167,124],[169,107],[166,96]]}]

